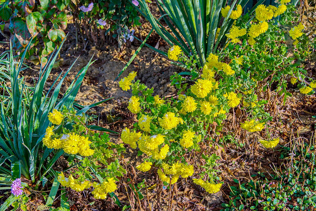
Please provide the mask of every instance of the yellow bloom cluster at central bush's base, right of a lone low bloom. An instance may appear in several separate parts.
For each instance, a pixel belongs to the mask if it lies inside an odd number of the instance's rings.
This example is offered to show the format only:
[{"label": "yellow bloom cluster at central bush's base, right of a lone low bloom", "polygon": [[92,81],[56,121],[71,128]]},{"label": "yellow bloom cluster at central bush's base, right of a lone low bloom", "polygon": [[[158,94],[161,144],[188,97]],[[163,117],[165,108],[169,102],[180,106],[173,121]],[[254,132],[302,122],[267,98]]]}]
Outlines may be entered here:
[{"label": "yellow bloom cluster at central bush's base, right of a lone low bloom", "polygon": [[[185,165],[183,163],[173,163],[171,166],[169,166],[166,163],[161,164],[162,169],[158,169],[157,173],[161,181],[170,183],[170,177],[171,177],[171,184],[178,181],[179,176],[182,178],[186,178],[189,176],[192,176],[194,173],[193,165]],[[169,176],[167,176],[169,175]],[[173,175],[173,176],[171,176]]]}]

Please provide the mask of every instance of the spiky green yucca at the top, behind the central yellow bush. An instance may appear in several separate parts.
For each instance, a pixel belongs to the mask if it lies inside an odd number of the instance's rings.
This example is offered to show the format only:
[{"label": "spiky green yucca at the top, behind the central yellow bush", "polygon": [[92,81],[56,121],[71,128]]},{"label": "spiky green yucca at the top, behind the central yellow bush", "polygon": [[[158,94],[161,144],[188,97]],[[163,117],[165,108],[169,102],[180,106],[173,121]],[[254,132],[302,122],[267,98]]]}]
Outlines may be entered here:
[{"label": "spiky green yucca at the top, behind the central yellow bush", "polygon": [[[258,1],[246,12],[251,15],[263,1]],[[139,6],[135,7],[170,46],[178,45],[187,56],[194,57],[198,67],[203,67],[210,53],[215,53],[217,49],[226,45],[225,34],[235,21],[229,18],[231,12],[237,4],[244,8],[247,2],[248,0],[156,0],[168,27],[164,27],[153,16],[146,0],[139,0]],[[223,18],[221,9],[226,5],[230,5],[230,10],[227,17]],[[218,28],[220,30],[216,39]]]}]

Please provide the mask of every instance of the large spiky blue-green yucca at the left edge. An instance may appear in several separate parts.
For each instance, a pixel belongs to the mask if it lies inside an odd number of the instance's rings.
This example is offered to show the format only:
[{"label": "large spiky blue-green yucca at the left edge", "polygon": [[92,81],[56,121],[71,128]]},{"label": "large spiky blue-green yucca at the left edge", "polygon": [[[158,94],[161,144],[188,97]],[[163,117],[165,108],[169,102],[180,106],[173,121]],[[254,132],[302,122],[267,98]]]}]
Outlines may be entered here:
[{"label": "large spiky blue-green yucca at the left edge", "polygon": [[[20,75],[21,70],[25,68],[23,59],[26,51],[19,63],[14,61],[12,48],[9,53],[0,56],[0,84],[2,85],[0,85],[2,92],[0,97],[0,186],[6,186],[0,189],[10,189],[8,185],[21,176],[30,180],[34,184],[33,189],[37,189],[40,182],[45,186],[48,181],[47,175],[52,178],[56,176],[52,166],[64,154],[64,151],[54,151],[42,144],[42,138],[50,124],[48,113],[52,109],[73,107],[88,67],[94,62],[91,58],[88,64],[78,72],[64,95],[58,99],[63,81],[76,62],[72,63],[63,76],[63,73],[60,73],[49,87],[46,80],[60,49],[61,46],[55,49],[55,53],[50,56],[45,67],[40,68],[39,79],[34,87],[27,87]],[[10,85],[7,86],[5,83],[8,81]],[[48,91],[45,91],[48,87]],[[108,99],[83,107],[77,115],[82,115],[89,108],[106,100]],[[109,131],[94,125],[90,128]],[[73,158],[70,156],[70,159]],[[57,192],[57,189],[55,188],[54,191]],[[10,196],[5,205],[9,206],[15,200],[15,197]],[[1,206],[0,210],[5,209],[6,206]]]}]

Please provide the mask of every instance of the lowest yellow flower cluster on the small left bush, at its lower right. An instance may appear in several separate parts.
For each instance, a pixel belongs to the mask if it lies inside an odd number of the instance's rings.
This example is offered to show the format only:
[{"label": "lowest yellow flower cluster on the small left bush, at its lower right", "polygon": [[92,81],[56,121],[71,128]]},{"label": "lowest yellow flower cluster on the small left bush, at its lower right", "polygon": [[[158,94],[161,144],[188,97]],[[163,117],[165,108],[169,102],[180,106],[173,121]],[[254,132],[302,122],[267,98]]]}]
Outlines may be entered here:
[{"label": "lowest yellow flower cluster on the small left bush, at its lower right", "polygon": [[107,181],[102,182],[102,184],[93,183],[94,190],[91,192],[96,199],[106,199],[107,193],[114,192],[117,188],[117,185],[114,182],[114,178],[107,178]]}]

